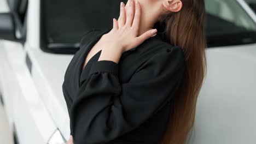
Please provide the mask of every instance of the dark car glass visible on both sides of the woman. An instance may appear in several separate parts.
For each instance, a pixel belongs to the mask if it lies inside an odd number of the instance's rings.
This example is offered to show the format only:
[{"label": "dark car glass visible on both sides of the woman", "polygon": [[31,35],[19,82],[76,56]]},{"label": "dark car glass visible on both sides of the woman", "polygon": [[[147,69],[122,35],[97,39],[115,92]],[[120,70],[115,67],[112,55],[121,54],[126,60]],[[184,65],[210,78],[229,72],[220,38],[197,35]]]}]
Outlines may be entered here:
[{"label": "dark car glass visible on both sides of the woman", "polygon": [[[76,52],[87,30],[112,27],[112,18],[119,16],[120,2],[101,1],[98,5],[89,0],[41,1],[42,49]],[[206,0],[206,11],[208,47],[255,43],[255,23],[235,0]]]}]

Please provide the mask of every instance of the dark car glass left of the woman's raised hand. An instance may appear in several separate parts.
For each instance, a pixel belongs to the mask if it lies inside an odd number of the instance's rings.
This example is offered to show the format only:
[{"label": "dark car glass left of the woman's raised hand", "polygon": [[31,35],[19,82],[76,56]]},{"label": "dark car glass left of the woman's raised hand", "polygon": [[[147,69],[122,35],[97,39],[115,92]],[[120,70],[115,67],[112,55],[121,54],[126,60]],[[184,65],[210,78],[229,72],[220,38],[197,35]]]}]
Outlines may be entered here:
[{"label": "dark car glass left of the woman's raised hand", "polygon": [[78,48],[79,41],[87,30],[112,27],[113,17],[119,16],[120,2],[121,0],[42,1],[42,28],[48,49]]}]

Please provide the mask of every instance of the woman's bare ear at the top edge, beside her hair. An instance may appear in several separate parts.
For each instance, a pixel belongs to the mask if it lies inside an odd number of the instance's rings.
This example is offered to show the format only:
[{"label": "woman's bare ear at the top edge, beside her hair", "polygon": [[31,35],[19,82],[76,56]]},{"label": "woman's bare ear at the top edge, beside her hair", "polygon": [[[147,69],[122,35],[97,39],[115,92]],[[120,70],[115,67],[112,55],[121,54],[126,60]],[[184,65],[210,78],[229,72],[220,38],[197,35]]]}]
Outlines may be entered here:
[{"label": "woman's bare ear at the top edge, beside her hair", "polygon": [[163,0],[162,3],[164,7],[171,12],[178,12],[182,9],[182,1],[181,0]]}]

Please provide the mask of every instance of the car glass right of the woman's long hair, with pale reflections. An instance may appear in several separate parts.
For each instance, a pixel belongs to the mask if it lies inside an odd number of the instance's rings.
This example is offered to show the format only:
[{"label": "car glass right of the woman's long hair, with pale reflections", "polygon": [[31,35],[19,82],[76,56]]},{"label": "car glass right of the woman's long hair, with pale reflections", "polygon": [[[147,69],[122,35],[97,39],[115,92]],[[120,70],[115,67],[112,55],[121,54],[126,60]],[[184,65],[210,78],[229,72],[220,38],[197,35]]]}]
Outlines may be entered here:
[{"label": "car glass right of the woman's long hair, with pale reflections", "polygon": [[206,0],[208,47],[255,43],[256,25],[234,0]]}]

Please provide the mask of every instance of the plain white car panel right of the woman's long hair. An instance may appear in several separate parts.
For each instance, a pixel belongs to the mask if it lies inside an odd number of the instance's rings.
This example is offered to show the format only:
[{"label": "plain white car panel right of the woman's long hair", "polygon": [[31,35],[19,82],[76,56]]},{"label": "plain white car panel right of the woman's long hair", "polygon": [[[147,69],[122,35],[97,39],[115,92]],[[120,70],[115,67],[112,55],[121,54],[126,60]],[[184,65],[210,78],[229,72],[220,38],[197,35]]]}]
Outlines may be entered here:
[{"label": "plain white car panel right of the woman's long hair", "polygon": [[190,143],[255,143],[256,44],[206,52]]}]

